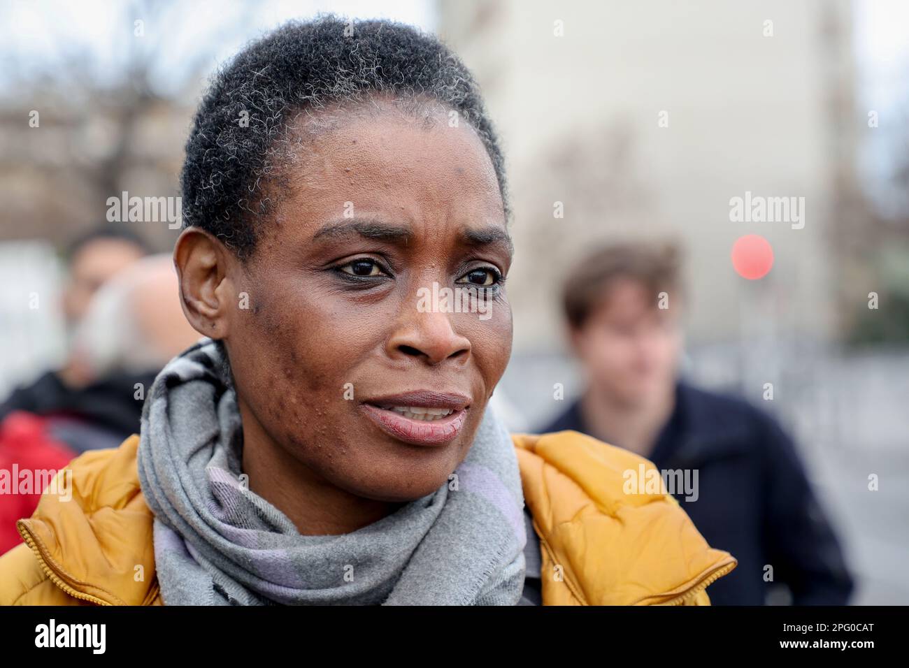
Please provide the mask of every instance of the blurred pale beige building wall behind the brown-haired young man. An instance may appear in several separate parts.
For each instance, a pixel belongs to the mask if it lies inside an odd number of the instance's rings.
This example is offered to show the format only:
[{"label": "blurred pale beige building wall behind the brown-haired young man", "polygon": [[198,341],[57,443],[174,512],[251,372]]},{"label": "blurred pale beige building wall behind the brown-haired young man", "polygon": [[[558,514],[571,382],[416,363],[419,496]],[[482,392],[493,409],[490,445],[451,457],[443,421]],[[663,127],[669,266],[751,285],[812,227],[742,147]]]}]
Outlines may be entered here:
[{"label": "blurred pale beige building wall behind the brown-haired young man", "polygon": [[[564,273],[628,236],[683,245],[696,342],[834,334],[834,184],[860,122],[847,1],[443,0],[439,15],[508,158],[516,351],[561,344]],[[804,197],[804,228],[730,221],[746,191]],[[762,281],[732,268],[744,234],[773,244]]]}]

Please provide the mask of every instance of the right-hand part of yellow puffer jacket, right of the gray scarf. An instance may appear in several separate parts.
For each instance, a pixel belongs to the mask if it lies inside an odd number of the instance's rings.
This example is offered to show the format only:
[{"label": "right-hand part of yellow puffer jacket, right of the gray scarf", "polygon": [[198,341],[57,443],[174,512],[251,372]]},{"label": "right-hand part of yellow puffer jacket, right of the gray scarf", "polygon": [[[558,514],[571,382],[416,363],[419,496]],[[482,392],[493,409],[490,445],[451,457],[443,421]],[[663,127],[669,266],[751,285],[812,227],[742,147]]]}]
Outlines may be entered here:
[{"label": "right-hand part of yellow puffer jacket, right of the gray scarf", "polygon": [[688,603],[734,569],[670,494],[629,490],[630,478],[658,477],[644,458],[571,431],[513,438],[543,552],[544,603]]}]

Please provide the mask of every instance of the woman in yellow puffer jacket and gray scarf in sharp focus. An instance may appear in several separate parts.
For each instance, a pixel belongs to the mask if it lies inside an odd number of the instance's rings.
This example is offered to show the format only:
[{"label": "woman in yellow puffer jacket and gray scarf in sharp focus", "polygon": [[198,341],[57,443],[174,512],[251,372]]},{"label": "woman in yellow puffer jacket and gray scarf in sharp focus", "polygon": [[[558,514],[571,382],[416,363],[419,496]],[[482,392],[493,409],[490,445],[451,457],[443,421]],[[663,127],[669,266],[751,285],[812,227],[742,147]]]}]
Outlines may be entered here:
[{"label": "woman in yellow puffer jacket and gray scarf in sharp focus", "polygon": [[624,494],[644,460],[486,410],[504,181],[434,38],[327,17],[246,48],[186,145],[174,257],[208,338],[140,436],[71,464],[79,503],[18,523],[0,603],[706,603],[734,559]]}]

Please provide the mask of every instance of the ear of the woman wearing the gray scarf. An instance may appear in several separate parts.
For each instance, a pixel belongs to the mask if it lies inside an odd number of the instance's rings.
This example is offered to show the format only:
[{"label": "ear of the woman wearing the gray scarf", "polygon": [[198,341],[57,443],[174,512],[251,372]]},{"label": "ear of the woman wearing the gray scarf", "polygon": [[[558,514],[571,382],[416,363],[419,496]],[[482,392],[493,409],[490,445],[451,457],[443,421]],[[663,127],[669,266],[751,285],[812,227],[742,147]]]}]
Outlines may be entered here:
[{"label": "ear of the woman wearing the gray scarf", "polygon": [[213,339],[230,332],[231,306],[235,304],[231,278],[237,260],[212,234],[188,227],[174,248],[180,281],[180,302],[195,331]]}]

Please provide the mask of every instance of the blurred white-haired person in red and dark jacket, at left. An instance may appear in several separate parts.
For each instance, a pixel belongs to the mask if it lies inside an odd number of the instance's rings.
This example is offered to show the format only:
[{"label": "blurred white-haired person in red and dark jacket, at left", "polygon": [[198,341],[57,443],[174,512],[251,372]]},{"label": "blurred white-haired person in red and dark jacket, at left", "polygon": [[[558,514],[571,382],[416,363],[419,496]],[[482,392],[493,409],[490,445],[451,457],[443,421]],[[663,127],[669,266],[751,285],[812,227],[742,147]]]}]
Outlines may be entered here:
[{"label": "blurred white-haired person in red and dark jacket, at left", "polygon": [[[139,431],[145,392],[158,371],[194,344],[170,255],[131,264],[93,296],[75,332],[74,352],[87,383],[40,394],[0,421],[0,471],[59,470],[76,454],[116,447]],[[0,494],[0,553],[21,539],[41,488]]]}]

